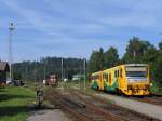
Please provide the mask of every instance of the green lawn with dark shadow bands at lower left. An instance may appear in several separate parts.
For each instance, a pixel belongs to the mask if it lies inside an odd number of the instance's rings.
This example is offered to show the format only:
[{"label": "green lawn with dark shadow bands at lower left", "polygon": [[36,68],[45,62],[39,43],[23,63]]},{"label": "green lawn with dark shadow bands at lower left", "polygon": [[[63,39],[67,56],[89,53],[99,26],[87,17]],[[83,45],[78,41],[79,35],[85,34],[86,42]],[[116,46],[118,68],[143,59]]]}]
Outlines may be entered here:
[{"label": "green lawn with dark shadow bands at lower left", "polygon": [[35,92],[27,88],[0,88],[0,121],[25,121]]}]

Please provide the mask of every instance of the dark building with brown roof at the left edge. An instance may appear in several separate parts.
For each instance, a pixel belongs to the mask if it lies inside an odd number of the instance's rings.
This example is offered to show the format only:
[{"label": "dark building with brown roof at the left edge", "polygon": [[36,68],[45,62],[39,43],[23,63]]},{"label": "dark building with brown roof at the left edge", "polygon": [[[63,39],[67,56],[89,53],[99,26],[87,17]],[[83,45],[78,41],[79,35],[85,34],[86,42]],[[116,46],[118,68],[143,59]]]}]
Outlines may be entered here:
[{"label": "dark building with brown roof at the left edge", "polygon": [[5,62],[0,62],[0,85],[6,84],[6,75],[9,71],[9,64]]}]

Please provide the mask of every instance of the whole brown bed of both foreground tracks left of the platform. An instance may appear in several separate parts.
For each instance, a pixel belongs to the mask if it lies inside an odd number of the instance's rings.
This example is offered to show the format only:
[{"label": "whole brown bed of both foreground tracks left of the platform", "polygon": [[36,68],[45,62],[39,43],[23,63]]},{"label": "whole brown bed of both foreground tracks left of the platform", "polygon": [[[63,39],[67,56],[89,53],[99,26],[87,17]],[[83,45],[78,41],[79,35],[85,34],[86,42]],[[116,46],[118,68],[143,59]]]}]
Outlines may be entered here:
[{"label": "whole brown bed of both foreground tracks left of the platform", "polygon": [[52,90],[48,95],[49,99],[59,105],[73,121],[159,121],[77,90],[70,90],[69,94]]}]

